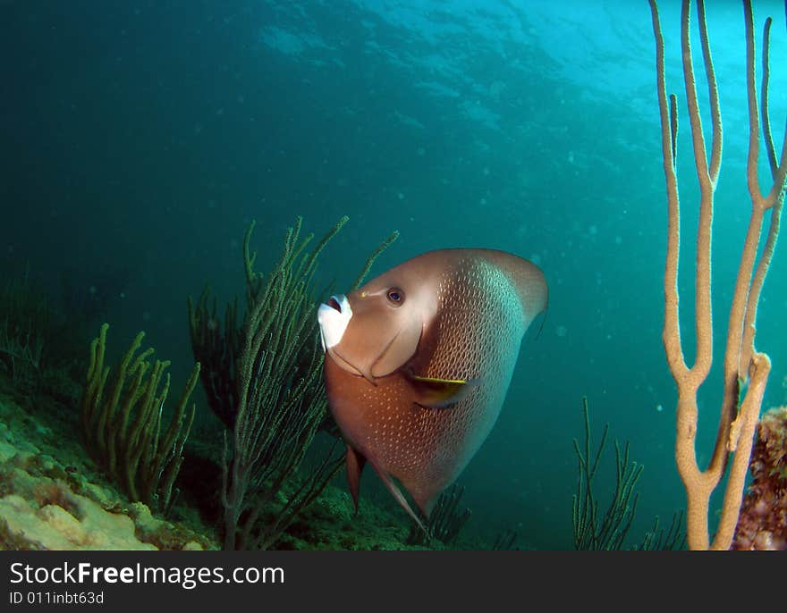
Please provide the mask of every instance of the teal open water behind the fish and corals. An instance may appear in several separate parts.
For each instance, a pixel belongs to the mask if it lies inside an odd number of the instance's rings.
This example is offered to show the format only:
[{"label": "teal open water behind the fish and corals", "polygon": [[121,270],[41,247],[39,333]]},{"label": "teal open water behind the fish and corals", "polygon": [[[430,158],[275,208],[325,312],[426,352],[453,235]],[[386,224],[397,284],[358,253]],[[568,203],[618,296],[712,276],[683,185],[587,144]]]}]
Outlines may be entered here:
[{"label": "teal open water behind the fish and corals", "polygon": [[[757,40],[759,24],[775,19],[780,143],[783,4],[755,4]],[[680,6],[659,6],[682,119],[681,321],[691,360],[696,175]],[[703,466],[750,210],[740,3],[708,3],[707,19],[724,157]],[[220,300],[242,292],[252,219],[265,270],[296,215],[317,235],[349,215],[319,267],[339,290],[393,230],[401,236],[372,275],[430,249],[504,249],[542,268],[549,308],[522,343],[495,429],[458,480],[473,512],[466,530],[491,542],[512,529],[522,548],[571,548],[583,396],[596,440],[609,423],[644,466],[632,541],[654,516],[684,506],[661,341],[666,197],[647,2],[3,0],[0,24],[0,275],[29,270],[71,309],[86,357],[105,321],[114,359],[144,330],[180,388],[194,361],[186,298],[206,284]],[[698,89],[708,125],[704,82]],[[787,396],[785,307],[778,245],[757,319],[757,348],[774,363],[764,407]],[[218,444],[199,387],[195,401],[192,439],[207,433]],[[597,479],[599,490],[614,487],[611,457]],[[335,483],[346,487],[343,474]],[[407,524],[371,471],[367,496]]]}]

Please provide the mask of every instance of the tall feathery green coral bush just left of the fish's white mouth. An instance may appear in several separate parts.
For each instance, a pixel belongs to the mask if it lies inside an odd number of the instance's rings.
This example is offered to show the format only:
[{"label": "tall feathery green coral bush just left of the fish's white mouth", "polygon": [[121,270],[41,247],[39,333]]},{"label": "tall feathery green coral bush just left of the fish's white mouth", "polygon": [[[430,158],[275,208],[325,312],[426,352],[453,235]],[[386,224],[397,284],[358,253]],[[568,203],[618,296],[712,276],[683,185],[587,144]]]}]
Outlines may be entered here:
[{"label": "tall feathery green coral bush just left of the fish's white mouth", "polygon": [[[300,238],[299,218],[287,232],[282,258],[265,285],[261,275],[253,272],[254,255],[246,254],[250,311],[238,361],[233,453],[225,458],[224,549],[269,547],[341,466],[340,458],[326,455],[275,520],[257,525],[267,504],[295,474],[326,415],[311,283],[318,256],[346,222],[346,217],[340,220],[313,251],[304,254],[312,236]],[[238,533],[246,511],[249,515]]]}]

